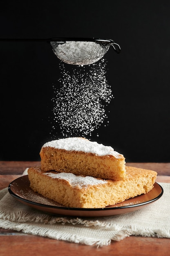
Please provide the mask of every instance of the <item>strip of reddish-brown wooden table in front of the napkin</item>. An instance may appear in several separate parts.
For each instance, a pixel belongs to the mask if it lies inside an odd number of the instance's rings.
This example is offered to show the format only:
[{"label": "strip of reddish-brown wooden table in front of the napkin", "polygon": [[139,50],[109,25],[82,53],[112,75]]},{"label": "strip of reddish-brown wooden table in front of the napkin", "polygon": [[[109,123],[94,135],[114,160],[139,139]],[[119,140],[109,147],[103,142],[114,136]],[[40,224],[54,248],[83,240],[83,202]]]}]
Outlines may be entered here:
[{"label": "strip of reddish-brown wooden table in front of the napkin", "polygon": [[1,256],[168,256],[170,252],[170,240],[168,238],[139,236],[130,236],[119,242],[112,241],[111,245],[97,248],[96,246],[69,243],[40,236],[5,234],[0,236],[0,244]]}]

